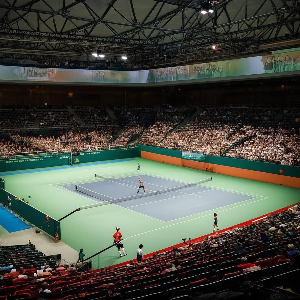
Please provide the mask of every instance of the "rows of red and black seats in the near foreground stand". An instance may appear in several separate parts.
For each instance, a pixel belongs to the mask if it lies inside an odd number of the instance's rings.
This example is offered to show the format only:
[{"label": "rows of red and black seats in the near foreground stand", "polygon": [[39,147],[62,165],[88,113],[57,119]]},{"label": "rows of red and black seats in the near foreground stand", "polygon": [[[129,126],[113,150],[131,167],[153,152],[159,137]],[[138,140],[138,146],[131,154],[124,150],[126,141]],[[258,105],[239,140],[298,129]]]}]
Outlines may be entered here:
[{"label": "rows of red and black seats in the near foreground stand", "polygon": [[[47,282],[47,288],[51,290],[50,294],[43,294],[43,298],[144,300],[160,297],[178,300],[196,297],[201,299],[201,295],[223,291],[222,293],[229,294],[239,292],[238,297],[235,295],[234,299],[244,299],[249,289],[252,293],[263,293],[266,289],[268,293],[276,291],[280,299],[291,299],[289,297],[293,296],[296,298],[296,294],[275,288],[283,286],[299,293],[297,281],[300,274],[300,256],[298,251],[293,251],[293,255],[290,255],[289,249],[290,244],[296,249],[300,248],[300,217],[294,211],[289,211],[274,213],[269,215],[267,220],[250,226],[239,226],[220,234],[213,233],[196,243],[182,244],[179,248],[174,247],[173,250],[157,253],[153,257],[143,259],[141,263],[130,262],[118,268],[108,267],[100,272],[86,271],[82,274],[76,270],[56,274],[53,267],[54,274],[43,278],[43,282]],[[264,239],[262,242],[263,232],[267,234],[268,241]],[[31,257],[38,256],[32,245],[13,247],[16,247],[13,255],[22,253],[22,256],[17,257],[26,257],[31,259],[30,262],[35,261],[36,267],[43,258],[47,259],[45,256],[41,256],[38,261],[37,258],[32,259]],[[24,249],[20,250],[20,247]],[[6,255],[11,256],[10,249],[2,247],[0,253],[7,251]],[[247,258],[246,264],[244,257]],[[19,258],[19,262],[12,258],[5,259],[6,263],[2,263],[3,265],[25,265]],[[50,260],[49,263],[55,262]],[[253,266],[255,271],[249,271],[247,267]],[[0,297],[3,299],[41,296],[39,289],[43,282],[33,282],[29,278],[20,282],[9,280],[11,278],[0,283]],[[252,282],[250,286],[249,282]],[[216,298],[216,294],[213,298]]]}]

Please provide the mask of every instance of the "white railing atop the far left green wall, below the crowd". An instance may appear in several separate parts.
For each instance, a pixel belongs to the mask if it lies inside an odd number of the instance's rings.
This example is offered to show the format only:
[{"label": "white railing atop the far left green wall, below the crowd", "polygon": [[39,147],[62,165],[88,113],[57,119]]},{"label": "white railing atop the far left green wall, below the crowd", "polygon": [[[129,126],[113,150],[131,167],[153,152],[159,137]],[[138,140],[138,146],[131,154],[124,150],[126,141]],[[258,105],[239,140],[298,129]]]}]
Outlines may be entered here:
[{"label": "white railing atop the far left green wall, below the crowd", "polygon": [[[93,146],[89,148],[77,148],[78,152],[87,152],[87,151],[101,151],[101,150],[113,150],[113,149],[126,149],[133,148],[135,144],[129,145],[107,145],[103,147]],[[52,156],[70,153],[72,149],[60,149],[60,150],[45,150],[45,151],[33,151],[33,152],[21,152],[21,153],[1,153],[1,160],[16,160],[16,159],[25,159],[25,158],[33,158],[33,157],[44,157],[49,158]],[[74,152],[74,149],[73,149]]]}]

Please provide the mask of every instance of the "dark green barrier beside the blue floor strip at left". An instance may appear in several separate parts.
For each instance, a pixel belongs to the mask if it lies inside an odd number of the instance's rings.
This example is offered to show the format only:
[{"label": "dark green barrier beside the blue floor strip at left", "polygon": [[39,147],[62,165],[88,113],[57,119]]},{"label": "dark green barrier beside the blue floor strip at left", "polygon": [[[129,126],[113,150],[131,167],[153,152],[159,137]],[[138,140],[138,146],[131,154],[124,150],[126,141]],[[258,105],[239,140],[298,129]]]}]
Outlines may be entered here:
[{"label": "dark green barrier beside the blue floor strip at left", "polygon": [[[7,196],[9,192],[6,190],[0,189],[0,202],[7,205]],[[58,239],[61,239],[61,232],[60,232],[60,222],[53,219],[49,216],[49,228],[46,223],[46,214],[39,211],[38,209],[34,208],[33,206],[29,205],[28,203],[22,200],[15,200],[16,196],[11,195],[11,206],[10,209],[15,211],[25,220],[29,221],[39,229],[43,230],[44,232],[48,233],[49,235],[55,237],[55,233],[58,233]]]}]

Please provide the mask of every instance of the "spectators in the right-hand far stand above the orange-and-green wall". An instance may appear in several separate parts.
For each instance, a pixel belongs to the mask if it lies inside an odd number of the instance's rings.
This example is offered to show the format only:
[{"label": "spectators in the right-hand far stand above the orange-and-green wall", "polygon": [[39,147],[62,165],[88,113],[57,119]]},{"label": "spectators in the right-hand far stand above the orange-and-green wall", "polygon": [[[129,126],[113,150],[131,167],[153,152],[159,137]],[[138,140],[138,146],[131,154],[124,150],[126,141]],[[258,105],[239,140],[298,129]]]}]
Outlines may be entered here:
[{"label": "spectators in the right-hand far stand above the orange-and-green wall", "polygon": [[[152,146],[207,155],[300,165],[300,132],[299,129],[292,127],[295,126],[295,119],[292,122],[291,117],[287,116],[286,119],[290,121],[285,122],[286,126],[281,124],[275,128],[246,125],[245,123],[252,118],[252,110],[250,115],[247,111],[246,107],[202,109],[189,124],[175,131],[169,128],[172,132],[165,138],[160,132],[161,124],[156,123],[153,129],[155,133],[148,138],[142,136],[144,138],[142,142]],[[261,110],[257,120],[262,122],[270,120],[263,119],[261,116],[269,116],[271,111]],[[278,112],[277,109],[276,111]],[[288,109],[284,110],[285,114],[288,111]],[[293,112],[293,118],[295,111],[298,110],[290,111]],[[274,125],[274,120],[272,124]],[[163,126],[162,129],[164,132]]]}]

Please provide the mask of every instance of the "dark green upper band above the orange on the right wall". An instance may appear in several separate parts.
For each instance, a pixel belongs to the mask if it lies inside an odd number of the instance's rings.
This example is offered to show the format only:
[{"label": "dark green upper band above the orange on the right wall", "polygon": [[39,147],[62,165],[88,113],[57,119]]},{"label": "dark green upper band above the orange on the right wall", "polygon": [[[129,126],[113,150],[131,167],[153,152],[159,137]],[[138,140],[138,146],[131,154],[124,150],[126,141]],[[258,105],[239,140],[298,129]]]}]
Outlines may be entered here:
[{"label": "dark green upper band above the orange on the right wall", "polygon": [[[165,149],[165,148],[152,147],[146,145],[138,145],[138,148],[139,148],[139,156],[141,156],[141,151],[146,151],[146,152],[181,158],[181,151],[179,150]],[[249,161],[244,159],[229,158],[223,156],[213,156],[213,155],[206,156],[206,163],[277,174],[277,175],[280,174],[279,170],[283,170],[282,175],[300,178],[300,167],[295,167],[295,166],[271,164],[271,163],[264,163],[261,161]]]}]

